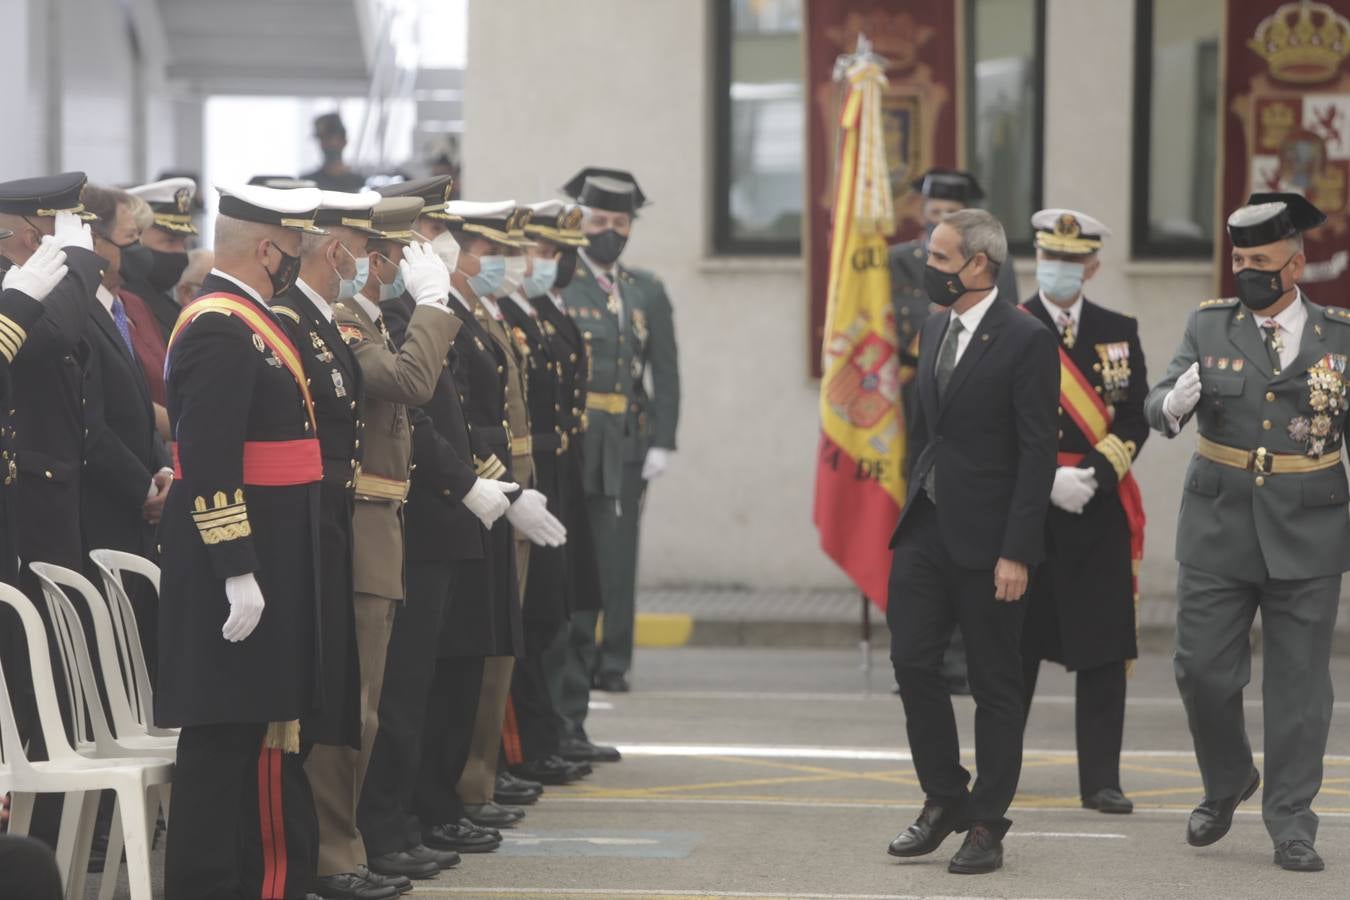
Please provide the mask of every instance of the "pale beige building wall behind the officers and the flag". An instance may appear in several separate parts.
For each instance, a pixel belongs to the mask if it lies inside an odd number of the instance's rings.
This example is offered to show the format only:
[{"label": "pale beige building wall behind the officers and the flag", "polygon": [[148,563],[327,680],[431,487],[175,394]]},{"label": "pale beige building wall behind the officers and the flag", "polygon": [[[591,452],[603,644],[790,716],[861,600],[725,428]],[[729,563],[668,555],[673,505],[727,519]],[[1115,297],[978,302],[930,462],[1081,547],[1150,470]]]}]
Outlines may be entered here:
[{"label": "pale beige building wall behind the officers and the flag", "polygon": [[[590,0],[585,15],[551,0],[471,3],[466,197],[539,200],[594,163],[632,169],[655,201],[625,259],[670,289],[684,413],[680,451],[648,498],[643,582],[842,587],[811,525],[817,383],[806,375],[801,262],[707,258],[706,9],[701,0]],[[1049,0],[1048,23],[1045,202],[1115,229],[1089,294],[1139,317],[1156,379],[1212,279],[1204,262],[1129,262],[1133,4]],[[1025,291],[1029,264],[1019,270]],[[1137,468],[1149,513],[1145,594],[1174,583],[1189,445],[1154,437]]]}]

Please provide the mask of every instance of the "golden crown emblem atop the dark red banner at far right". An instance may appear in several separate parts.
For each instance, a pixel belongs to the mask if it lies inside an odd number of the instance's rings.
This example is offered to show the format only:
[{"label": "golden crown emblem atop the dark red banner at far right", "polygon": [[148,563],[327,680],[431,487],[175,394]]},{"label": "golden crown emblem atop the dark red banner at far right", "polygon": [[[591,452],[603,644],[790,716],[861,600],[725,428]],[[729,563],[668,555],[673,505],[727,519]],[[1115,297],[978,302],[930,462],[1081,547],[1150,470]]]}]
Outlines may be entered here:
[{"label": "golden crown emblem atop the dark red banner at far right", "polygon": [[1324,3],[1287,3],[1261,20],[1247,47],[1280,81],[1328,81],[1350,55],[1350,19]]}]

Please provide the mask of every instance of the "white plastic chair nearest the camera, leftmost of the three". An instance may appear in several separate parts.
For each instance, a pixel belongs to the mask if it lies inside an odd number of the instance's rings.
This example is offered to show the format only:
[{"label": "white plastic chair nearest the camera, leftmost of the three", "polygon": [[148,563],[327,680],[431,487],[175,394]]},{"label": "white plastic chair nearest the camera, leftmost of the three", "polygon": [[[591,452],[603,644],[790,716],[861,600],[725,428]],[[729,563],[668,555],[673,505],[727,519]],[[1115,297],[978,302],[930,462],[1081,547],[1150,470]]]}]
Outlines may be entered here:
[{"label": "white plastic chair nearest the camera, leftmost of the three", "polygon": [[[19,614],[28,658],[32,668],[34,699],[38,723],[47,743],[46,761],[30,761],[19,738],[19,726],[9,702],[9,688],[0,672],[0,791],[11,792],[9,831],[27,834],[32,820],[32,800],[36,793],[66,795],[57,841],[57,860],[62,866],[66,896],[82,897],[70,891],[74,849],[84,847],[78,857],[88,865],[89,838],[93,831],[93,811],[99,792],[115,791],[123,833],[127,835],[127,873],[132,900],[151,900],[150,888],[150,828],[154,827],[147,792],[169,785],[173,764],[163,758],[89,758],[76,753],[66,739],[57,707],[51,656],[47,652],[47,631],[38,609],[18,588],[0,584],[0,603]],[[157,797],[158,799],[158,797]],[[155,803],[154,808],[158,808]],[[72,815],[78,814],[78,815]],[[81,878],[82,881],[82,878]]]}]

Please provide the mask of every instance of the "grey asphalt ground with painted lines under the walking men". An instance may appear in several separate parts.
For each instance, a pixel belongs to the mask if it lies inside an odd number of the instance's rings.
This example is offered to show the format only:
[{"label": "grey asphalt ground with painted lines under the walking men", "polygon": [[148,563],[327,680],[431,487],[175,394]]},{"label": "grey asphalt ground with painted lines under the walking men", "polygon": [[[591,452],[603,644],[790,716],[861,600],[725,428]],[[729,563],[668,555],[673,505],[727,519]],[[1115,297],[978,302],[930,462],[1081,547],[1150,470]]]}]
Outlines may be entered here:
[{"label": "grey asphalt ground with painted lines under the walking men", "polygon": [[[1350,698],[1350,664],[1335,660],[1332,675]],[[1258,657],[1247,695],[1257,752],[1260,680]],[[953,876],[946,860],[957,837],[917,861],[886,854],[922,795],[905,756],[884,648],[871,683],[871,694],[864,692],[857,650],[640,650],[634,692],[595,695],[590,722],[591,735],[624,748],[625,761],[598,766],[579,785],[549,788],[501,851],[466,857],[408,896],[1350,896],[1350,703],[1336,706],[1316,806],[1327,872],[1293,874],[1272,865],[1256,799],[1220,843],[1185,845],[1185,816],[1202,789],[1165,654],[1141,658],[1130,683],[1123,781],[1135,814],[1081,810],[1073,683],[1046,665],[1004,869]],[[969,748],[973,703],[959,698],[956,710]]]}]

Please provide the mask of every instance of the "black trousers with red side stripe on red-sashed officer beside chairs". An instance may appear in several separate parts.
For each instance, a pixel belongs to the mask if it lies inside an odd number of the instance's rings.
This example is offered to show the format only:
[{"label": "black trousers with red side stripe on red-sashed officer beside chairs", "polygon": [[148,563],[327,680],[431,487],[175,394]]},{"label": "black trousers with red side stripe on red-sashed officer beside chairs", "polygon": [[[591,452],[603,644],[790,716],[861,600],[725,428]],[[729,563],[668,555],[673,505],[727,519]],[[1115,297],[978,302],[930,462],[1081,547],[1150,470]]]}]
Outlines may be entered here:
[{"label": "black trousers with red side stripe on red-sashed officer beside chairs", "polygon": [[262,746],[266,723],[178,734],[165,896],[304,900],[319,865],[315,803],[298,756]]}]

